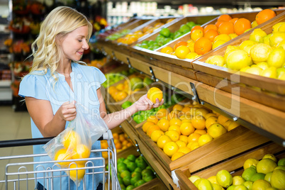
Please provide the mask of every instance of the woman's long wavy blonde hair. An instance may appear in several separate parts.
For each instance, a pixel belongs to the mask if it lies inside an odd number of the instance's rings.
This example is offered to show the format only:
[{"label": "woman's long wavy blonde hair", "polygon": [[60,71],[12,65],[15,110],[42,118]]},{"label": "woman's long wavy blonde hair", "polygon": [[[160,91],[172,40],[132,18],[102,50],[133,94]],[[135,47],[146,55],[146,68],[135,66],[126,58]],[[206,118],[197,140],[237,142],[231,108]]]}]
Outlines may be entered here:
[{"label": "woman's long wavy blonde hair", "polygon": [[40,34],[32,44],[33,66],[30,72],[43,70],[46,73],[50,68],[52,77],[57,81],[55,71],[62,57],[62,50],[56,43],[57,38],[65,38],[65,35],[82,26],[88,26],[88,42],[92,25],[86,16],[68,6],[53,9],[41,24]]}]

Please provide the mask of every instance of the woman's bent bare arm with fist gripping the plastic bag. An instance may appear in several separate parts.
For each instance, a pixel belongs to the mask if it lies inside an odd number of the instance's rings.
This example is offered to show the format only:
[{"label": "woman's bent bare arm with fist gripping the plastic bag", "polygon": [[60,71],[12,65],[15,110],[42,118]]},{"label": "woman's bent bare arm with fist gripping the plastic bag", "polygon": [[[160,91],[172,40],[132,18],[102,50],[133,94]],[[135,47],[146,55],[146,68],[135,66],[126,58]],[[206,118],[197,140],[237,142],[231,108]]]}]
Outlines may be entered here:
[{"label": "woman's bent bare arm with fist gripping the plastic bag", "polygon": [[74,102],[65,102],[55,113],[52,112],[50,101],[25,97],[28,113],[43,137],[54,137],[65,130],[66,121],[72,121],[76,116]]}]

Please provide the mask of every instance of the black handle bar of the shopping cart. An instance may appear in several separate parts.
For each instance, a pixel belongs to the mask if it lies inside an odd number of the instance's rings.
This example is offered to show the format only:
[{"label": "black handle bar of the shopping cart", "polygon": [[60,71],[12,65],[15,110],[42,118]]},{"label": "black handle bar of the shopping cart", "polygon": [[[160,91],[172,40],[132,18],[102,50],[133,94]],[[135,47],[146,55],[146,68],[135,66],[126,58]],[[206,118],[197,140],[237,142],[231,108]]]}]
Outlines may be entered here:
[{"label": "black handle bar of the shopping cart", "polygon": [[[52,138],[28,138],[28,139],[18,139],[18,140],[2,140],[0,141],[1,147],[21,147],[28,145],[44,145],[52,140]],[[103,136],[99,138],[103,140]]]}]

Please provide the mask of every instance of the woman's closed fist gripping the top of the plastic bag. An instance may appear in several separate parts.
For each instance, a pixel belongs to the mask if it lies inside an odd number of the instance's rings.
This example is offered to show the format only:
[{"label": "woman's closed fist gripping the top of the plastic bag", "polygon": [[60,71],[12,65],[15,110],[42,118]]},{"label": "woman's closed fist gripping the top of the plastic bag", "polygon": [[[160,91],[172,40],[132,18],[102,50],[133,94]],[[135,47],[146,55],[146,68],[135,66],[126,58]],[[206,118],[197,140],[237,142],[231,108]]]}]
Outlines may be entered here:
[{"label": "woman's closed fist gripping the top of the plastic bag", "polygon": [[76,107],[75,107],[75,101],[72,101],[71,103],[69,101],[65,102],[60,106],[58,109],[58,113],[60,114],[60,118],[65,121],[72,121],[76,117]]}]

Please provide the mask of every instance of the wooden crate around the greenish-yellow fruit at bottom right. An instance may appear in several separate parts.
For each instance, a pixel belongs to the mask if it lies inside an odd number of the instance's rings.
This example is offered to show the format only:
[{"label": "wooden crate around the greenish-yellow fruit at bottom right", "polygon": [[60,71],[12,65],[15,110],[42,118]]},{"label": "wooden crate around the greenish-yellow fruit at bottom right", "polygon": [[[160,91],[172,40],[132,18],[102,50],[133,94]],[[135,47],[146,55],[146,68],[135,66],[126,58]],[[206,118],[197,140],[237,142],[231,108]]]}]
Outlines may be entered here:
[{"label": "wooden crate around the greenish-yellow fruit at bottom right", "polygon": [[[178,183],[181,189],[197,189],[194,184],[191,183],[189,177],[191,175],[198,175],[201,178],[207,179],[213,175],[216,175],[218,171],[225,169],[232,174],[232,176],[240,176],[243,172],[242,166],[248,158],[262,159],[266,154],[273,154],[278,159],[285,157],[285,149],[275,143],[268,143],[249,152],[245,152],[242,155],[233,157],[225,162],[216,164],[208,169],[203,169],[199,172],[191,172],[191,167],[184,165],[183,167],[175,170],[175,174],[178,178]],[[216,155],[217,157],[218,155]]]}]

